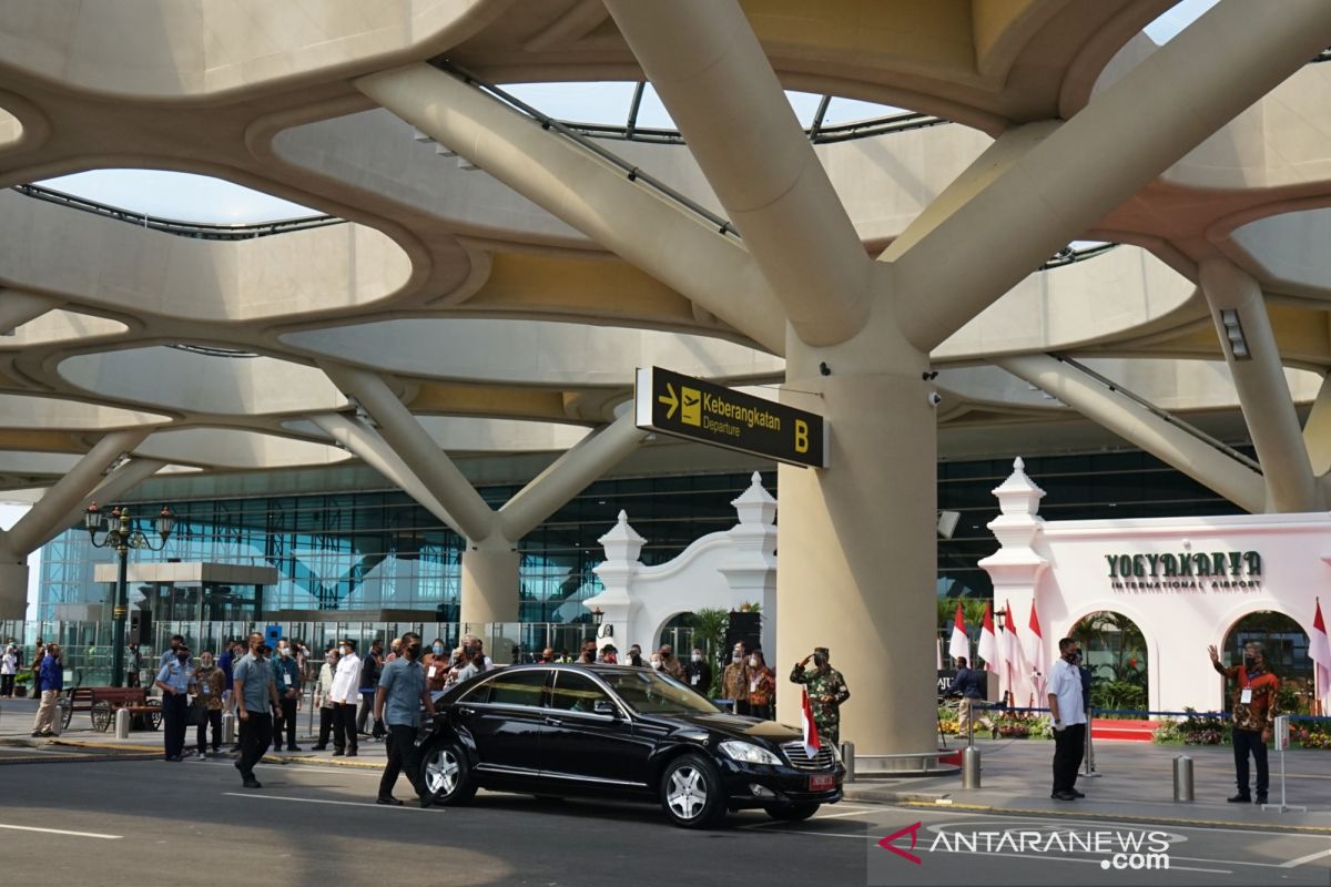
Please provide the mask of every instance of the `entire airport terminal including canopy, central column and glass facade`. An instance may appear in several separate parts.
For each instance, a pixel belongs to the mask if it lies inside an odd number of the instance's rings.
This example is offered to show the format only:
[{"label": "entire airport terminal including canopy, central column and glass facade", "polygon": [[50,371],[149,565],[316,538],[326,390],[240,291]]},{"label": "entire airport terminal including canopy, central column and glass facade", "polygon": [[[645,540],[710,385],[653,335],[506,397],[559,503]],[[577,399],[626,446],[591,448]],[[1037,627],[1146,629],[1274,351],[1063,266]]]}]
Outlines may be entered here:
[{"label": "entire airport terminal including canopy, central column and glass facade", "polygon": [[[936,751],[1016,456],[1047,519],[1331,504],[1331,8],[1170,5],[4,11],[3,625],[40,549],[29,618],[133,626],[96,501],[140,624],[572,640],[620,512],[663,564],[759,472],[769,661],[832,648],[861,753]],[[114,170],[297,206],[65,178]],[[644,427],[647,367],[821,418],[821,467]]]}]

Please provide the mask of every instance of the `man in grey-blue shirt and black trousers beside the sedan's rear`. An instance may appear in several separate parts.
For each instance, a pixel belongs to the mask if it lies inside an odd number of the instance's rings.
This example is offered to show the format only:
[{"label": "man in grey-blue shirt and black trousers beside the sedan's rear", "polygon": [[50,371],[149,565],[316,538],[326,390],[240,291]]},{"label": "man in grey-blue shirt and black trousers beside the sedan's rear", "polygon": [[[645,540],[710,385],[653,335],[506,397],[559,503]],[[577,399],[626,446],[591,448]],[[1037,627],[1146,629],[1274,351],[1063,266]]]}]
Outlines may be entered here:
[{"label": "man in grey-blue shirt and black trousers beside the sedan's rear", "polygon": [[421,774],[421,751],[415,743],[415,734],[421,729],[421,707],[425,707],[426,717],[434,718],[434,702],[430,701],[425,681],[421,636],[407,632],[402,636],[402,654],[383,666],[374,696],[374,719],[389,725],[389,762],[383,767],[375,803],[402,803],[393,797],[393,786],[403,770],[421,806],[429,807],[434,801]]}]

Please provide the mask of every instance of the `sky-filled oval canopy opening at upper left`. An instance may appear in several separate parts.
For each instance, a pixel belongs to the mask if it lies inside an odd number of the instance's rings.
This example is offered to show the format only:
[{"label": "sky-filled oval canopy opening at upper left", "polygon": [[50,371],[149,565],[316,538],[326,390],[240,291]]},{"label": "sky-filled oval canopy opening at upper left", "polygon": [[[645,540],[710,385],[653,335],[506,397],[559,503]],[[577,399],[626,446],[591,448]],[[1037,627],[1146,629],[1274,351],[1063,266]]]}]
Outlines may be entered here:
[{"label": "sky-filled oval canopy opening at upper left", "polygon": [[208,225],[262,225],[318,210],[210,176],[160,169],[98,169],[35,182],[153,218]]}]

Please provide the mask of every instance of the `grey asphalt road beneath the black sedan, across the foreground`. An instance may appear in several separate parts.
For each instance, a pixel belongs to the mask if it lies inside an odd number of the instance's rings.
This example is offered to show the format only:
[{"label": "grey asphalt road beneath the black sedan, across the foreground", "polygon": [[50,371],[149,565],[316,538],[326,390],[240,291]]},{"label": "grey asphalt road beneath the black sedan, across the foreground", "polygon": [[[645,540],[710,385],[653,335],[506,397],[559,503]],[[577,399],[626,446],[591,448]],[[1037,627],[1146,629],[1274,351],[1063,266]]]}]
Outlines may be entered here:
[{"label": "grey asphalt road beneath the black sedan, across the foreground", "polygon": [[[1331,884],[1326,834],[1117,828],[878,805],[827,807],[793,826],[740,814],[724,831],[689,832],[647,806],[483,793],[466,809],[389,809],[370,802],[374,771],[264,765],[258,775],[264,789],[246,791],[226,761],[4,766],[0,870],[13,883],[100,884],[250,862],[265,882],[290,884]],[[920,863],[878,847],[917,822]],[[1097,834],[1131,846],[1137,834],[1149,842],[1149,831],[1165,832],[1155,842],[1167,844],[1169,872],[1105,870],[1109,852],[1083,850]],[[909,832],[893,843],[910,852]]]}]

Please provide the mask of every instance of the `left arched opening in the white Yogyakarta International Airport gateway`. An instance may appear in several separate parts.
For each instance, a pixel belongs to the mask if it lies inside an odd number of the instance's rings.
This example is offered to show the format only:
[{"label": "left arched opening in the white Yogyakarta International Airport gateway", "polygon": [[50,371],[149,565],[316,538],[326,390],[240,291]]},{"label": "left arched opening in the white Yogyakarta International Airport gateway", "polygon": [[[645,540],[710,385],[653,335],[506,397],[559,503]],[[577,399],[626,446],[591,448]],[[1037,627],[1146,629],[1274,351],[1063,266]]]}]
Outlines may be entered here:
[{"label": "left arched opening in the white Yogyakarta International Airport gateway", "polygon": [[1081,644],[1082,665],[1091,672],[1091,707],[1123,711],[1099,717],[1143,717],[1133,714],[1150,707],[1146,637],[1137,622],[1114,610],[1098,610],[1078,620],[1067,636]]}]

